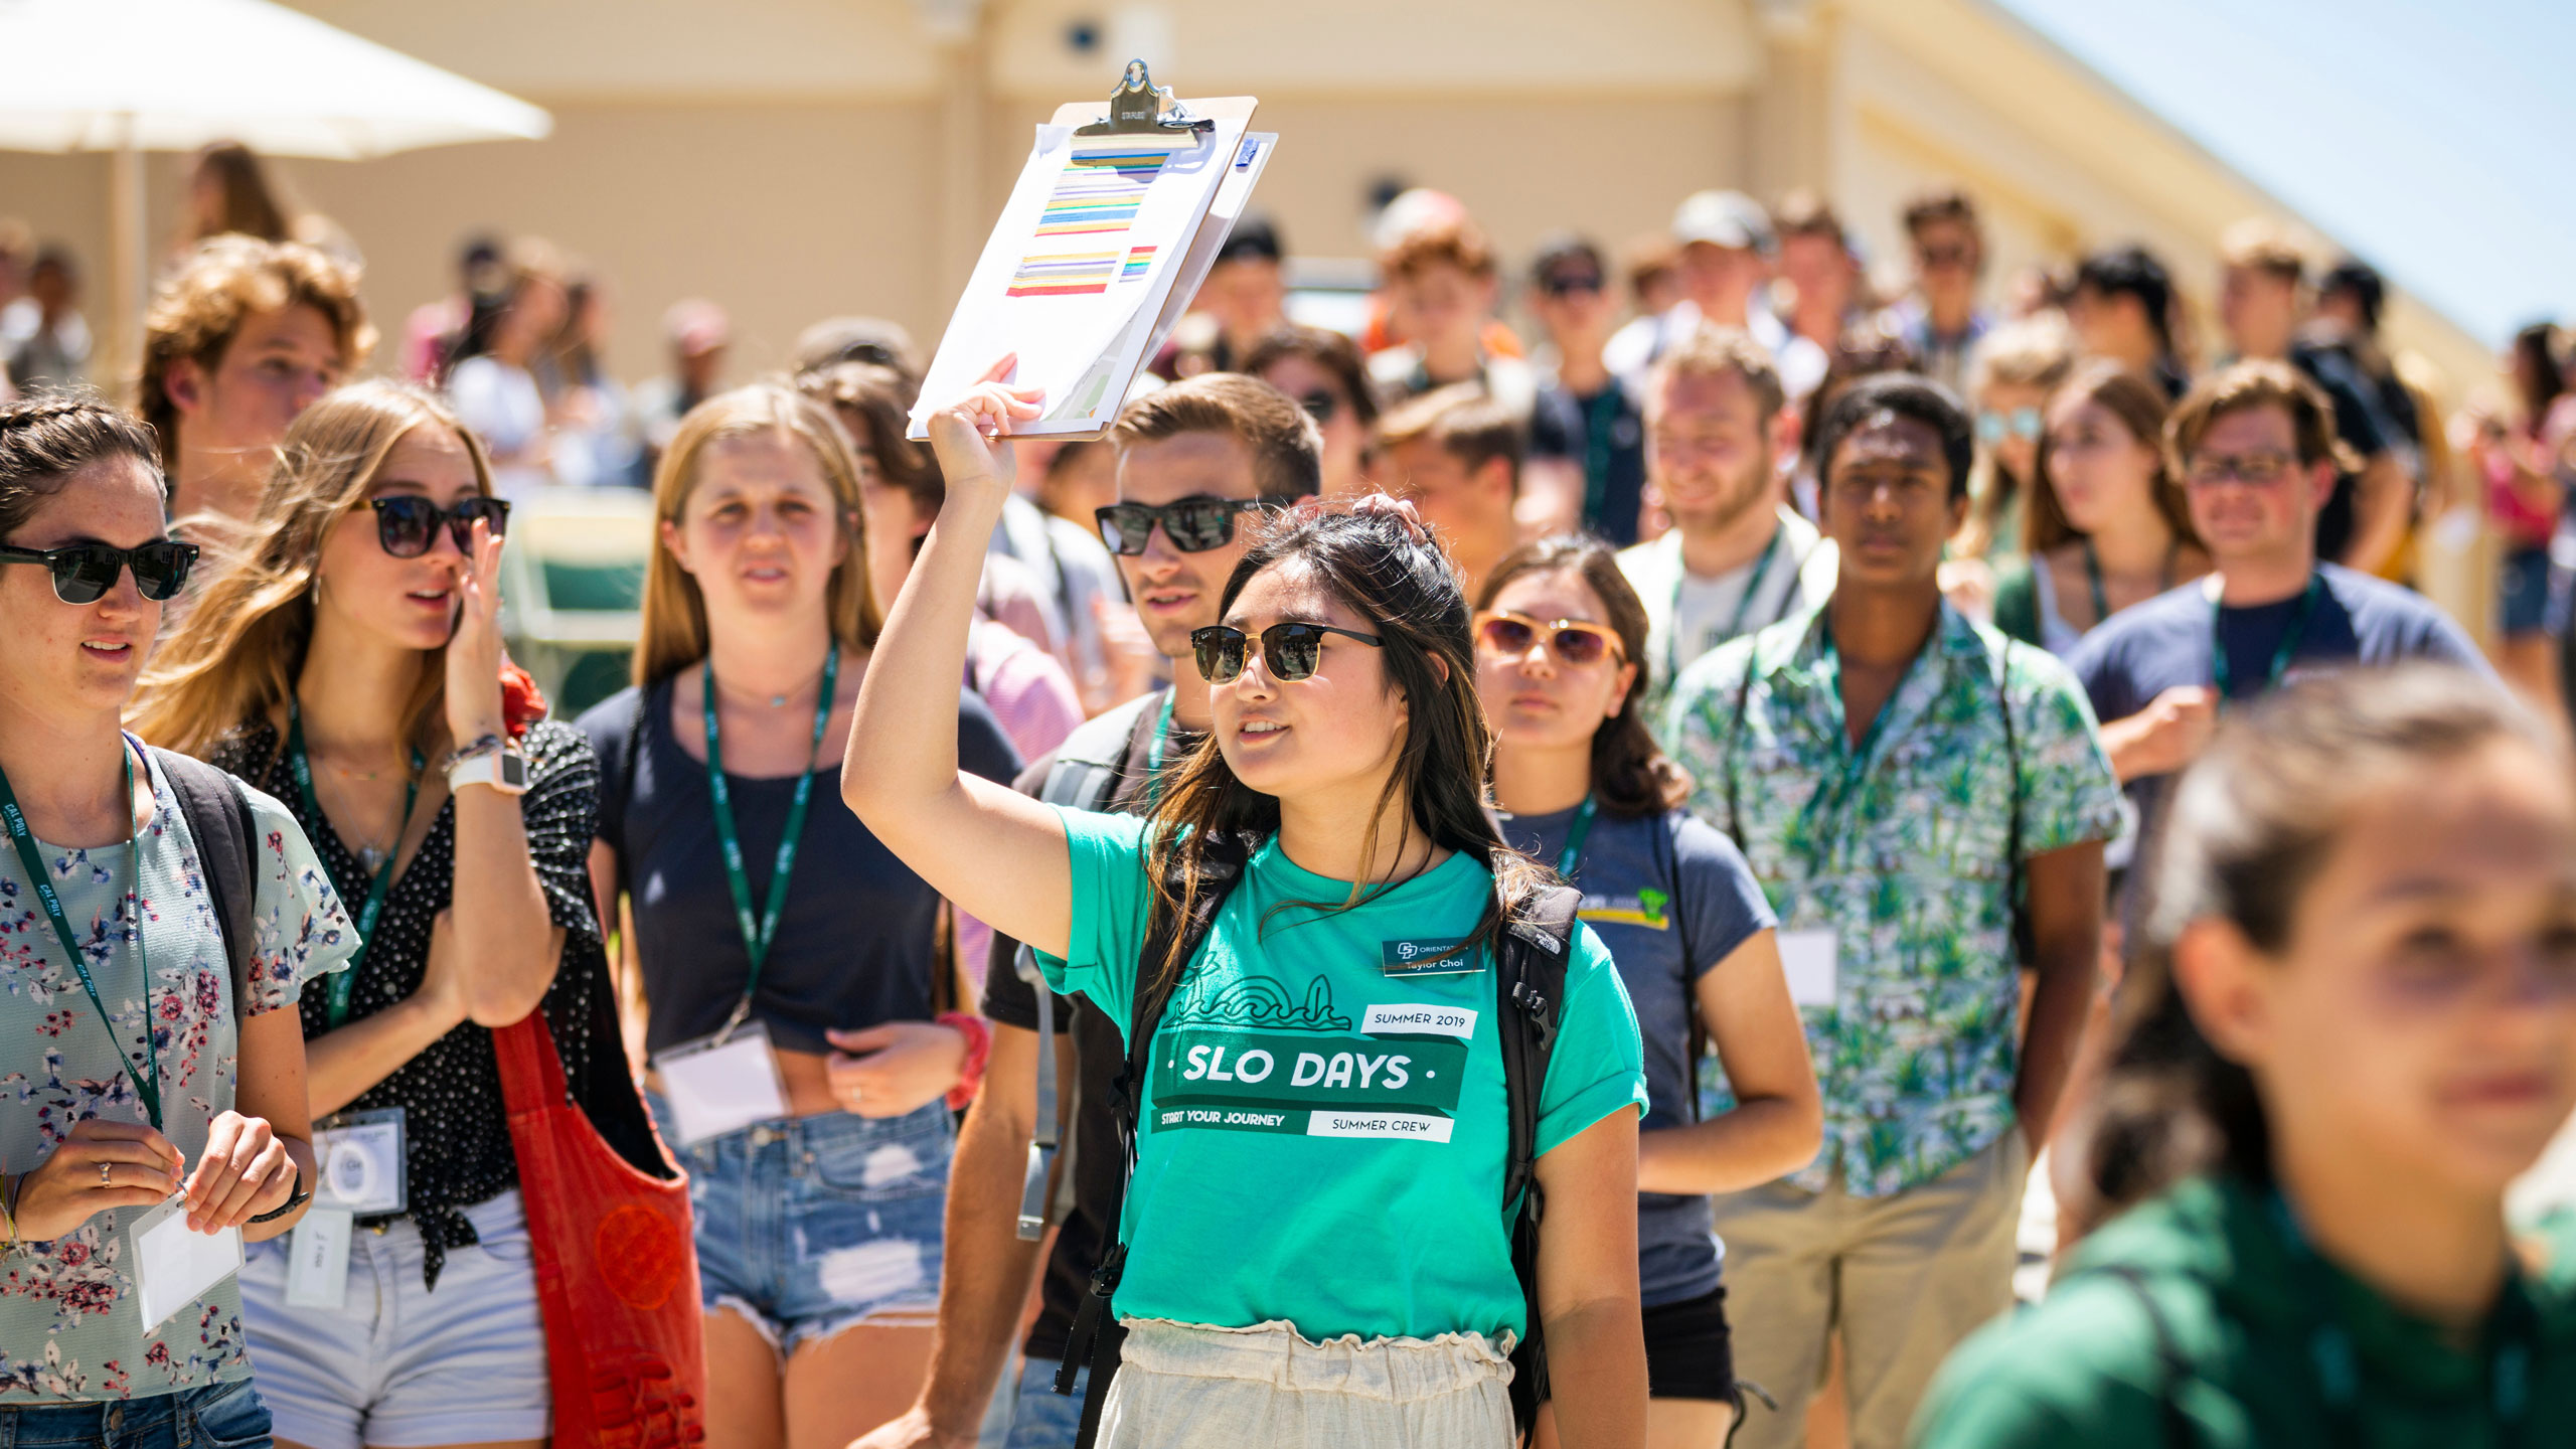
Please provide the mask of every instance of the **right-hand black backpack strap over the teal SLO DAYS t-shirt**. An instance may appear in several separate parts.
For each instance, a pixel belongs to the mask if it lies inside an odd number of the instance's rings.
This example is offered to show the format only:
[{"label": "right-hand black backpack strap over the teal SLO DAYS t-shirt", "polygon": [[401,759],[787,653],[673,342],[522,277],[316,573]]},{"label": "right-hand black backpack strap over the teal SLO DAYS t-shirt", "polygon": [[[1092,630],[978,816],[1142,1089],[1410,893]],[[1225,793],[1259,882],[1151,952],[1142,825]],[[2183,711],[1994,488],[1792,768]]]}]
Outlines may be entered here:
[{"label": "right-hand black backpack strap over the teal SLO DAYS t-shirt", "polygon": [[1502,1088],[1510,1104],[1510,1150],[1502,1163],[1502,1212],[1512,1232],[1512,1276],[1520,1279],[1528,1333],[1512,1346],[1512,1423],[1520,1436],[1538,1421],[1548,1400],[1548,1346],[1538,1323],[1538,1101],[1548,1085],[1548,1060],[1566,998],[1566,967],[1574,957],[1577,910],[1584,897],[1574,887],[1548,887],[1504,920],[1494,949],[1494,1003],[1502,1024]]}]

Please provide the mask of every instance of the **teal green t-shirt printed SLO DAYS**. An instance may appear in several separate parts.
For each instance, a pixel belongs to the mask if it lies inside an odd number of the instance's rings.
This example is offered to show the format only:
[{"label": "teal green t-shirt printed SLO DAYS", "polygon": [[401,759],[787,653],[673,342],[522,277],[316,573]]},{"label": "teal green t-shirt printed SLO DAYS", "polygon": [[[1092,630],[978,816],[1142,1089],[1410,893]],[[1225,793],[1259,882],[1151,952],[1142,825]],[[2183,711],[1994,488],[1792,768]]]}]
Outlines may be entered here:
[{"label": "teal green t-shirt printed SLO DAYS", "polygon": [[[1059,990],[1128,1029],[1144,951],[1146,822],[1059,810],[1072,949]],[[1350,882],[1262,843],[1162,1013],[1121,1230],[1121,1318],[1355,1333],[1528,1330],[1502,1214],[1510,1122],[1489,957],[1406,962],[1476,931],[1494,895],[1455,853],[1355,910]],[[1566,967],[1538,1152],[1641,1111],[1636,1016],[1589,928]]]}]

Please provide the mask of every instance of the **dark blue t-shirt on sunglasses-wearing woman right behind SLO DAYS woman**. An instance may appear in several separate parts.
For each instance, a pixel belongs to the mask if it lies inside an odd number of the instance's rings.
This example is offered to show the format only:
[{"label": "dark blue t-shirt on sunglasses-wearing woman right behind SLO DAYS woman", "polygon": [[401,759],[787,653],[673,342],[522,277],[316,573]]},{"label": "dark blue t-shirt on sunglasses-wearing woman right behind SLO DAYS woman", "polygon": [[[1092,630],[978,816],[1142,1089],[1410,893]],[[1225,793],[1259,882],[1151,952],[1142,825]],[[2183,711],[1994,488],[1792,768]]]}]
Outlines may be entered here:
[{"label": "dark blue t-shirt on sunglasses-wearing woman right behind SLO DAYS woman", "polygon": [[[1556,866],[1571,825],[1571,810],[1507,815],[1502,833]],[[1770,900],[1734,841],[1687,810],[1595,817],[1571,879],[1584,892],[1582,918],[1610,946],[1636,1008],[1646,1049],[1641,1129],[1687,1127],[1700,1116],[1690,1101],[1692,993],[1736,946],[1777,926]],[[1723,1253],[1705,1194],[1636,1194],[1636,1281],[1646,1307],[1713,1292]]]}]

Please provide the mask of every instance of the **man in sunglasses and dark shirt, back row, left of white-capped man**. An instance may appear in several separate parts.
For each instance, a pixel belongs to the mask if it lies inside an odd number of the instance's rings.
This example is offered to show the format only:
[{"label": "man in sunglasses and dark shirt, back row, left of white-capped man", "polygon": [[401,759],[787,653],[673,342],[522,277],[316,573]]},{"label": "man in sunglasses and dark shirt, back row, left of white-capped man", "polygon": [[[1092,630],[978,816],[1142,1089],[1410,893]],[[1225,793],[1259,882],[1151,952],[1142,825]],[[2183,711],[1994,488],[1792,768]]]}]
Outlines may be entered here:
[{"label": "man in sunglasses and dark shirt, back row, left of white-capped man", "polygon": [[1556,371],[1530,410],[1520,518],[1538,534],[1597,534],[1625,549],[1646,498],[1646,413],[1602,361],[1618,325],[1610,266],[1584,237],[1556,237],[1530,260],[1530,317]]}]

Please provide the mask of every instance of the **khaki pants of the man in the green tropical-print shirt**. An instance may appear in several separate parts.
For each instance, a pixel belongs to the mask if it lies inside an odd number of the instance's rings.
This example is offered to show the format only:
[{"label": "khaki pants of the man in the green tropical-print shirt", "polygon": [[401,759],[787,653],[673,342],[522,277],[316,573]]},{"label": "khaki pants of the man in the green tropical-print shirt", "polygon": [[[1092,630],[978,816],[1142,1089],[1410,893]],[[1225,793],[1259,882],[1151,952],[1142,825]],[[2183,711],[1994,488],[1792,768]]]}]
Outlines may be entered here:
[{"label": "khaki pants of the man in the green tropical-print shirt", "polygon": [[1788,1183],[1718,1199],[1736,1377],[1754,1403],[1736,1449],[1806,1444],[1806,1405],[1842,1330],[1852,1449],[1899,1449],[1932,1372],[1976,1325],[2012,1307],[2012,1232],[2030,1147],[2020,1124],[1947,1173],[1893,1196]]}]

